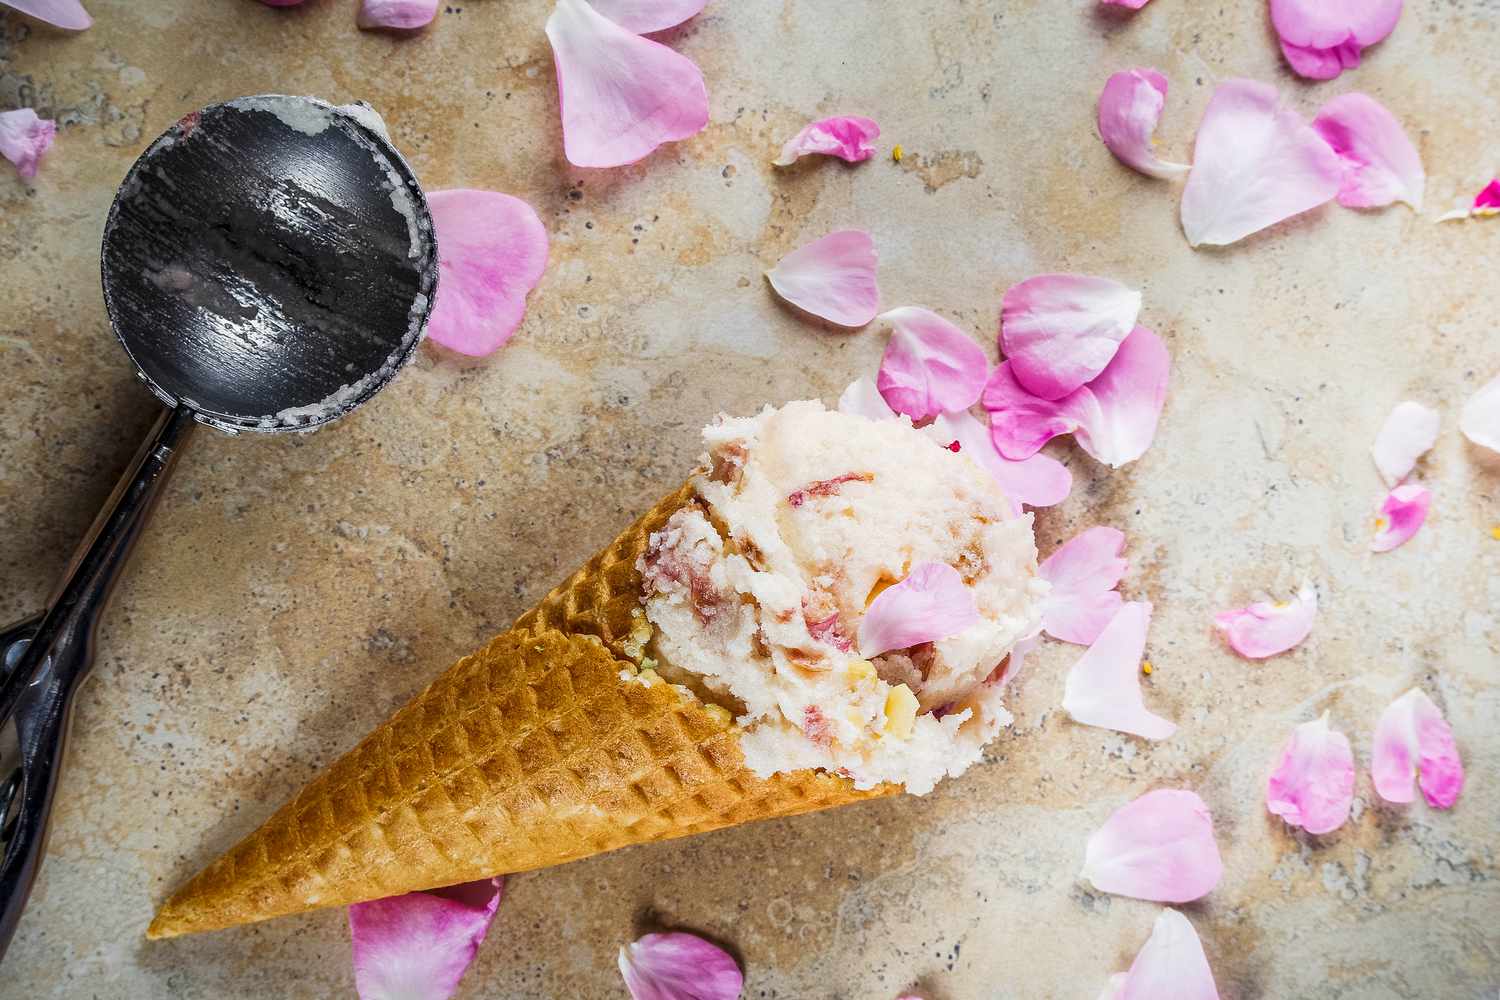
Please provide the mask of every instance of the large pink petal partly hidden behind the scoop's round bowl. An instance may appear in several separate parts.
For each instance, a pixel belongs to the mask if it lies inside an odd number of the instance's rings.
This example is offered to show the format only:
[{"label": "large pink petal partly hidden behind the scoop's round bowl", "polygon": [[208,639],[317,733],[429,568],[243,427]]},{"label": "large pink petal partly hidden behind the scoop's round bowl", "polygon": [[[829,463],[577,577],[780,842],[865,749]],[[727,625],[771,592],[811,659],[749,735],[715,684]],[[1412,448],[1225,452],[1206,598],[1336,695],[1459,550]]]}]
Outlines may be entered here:
[{"label": "large pink petal partly hidden behind the scoop's round bowl", "polygon": [[428,193],[438,237],[438,295],[428,336],[470,355],[500,349],[548,267],[548,231],[531,205],[494,190]]}]

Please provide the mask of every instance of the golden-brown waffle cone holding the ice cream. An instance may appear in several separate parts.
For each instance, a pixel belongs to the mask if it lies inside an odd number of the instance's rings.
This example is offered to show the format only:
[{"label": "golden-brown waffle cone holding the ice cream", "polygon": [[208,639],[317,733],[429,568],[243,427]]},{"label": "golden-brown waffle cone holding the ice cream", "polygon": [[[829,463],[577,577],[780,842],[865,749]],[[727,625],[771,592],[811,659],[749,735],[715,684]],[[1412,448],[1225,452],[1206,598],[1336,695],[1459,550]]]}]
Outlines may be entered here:
[{"label": "golden-brown waffle cone holding the ice cream", "polygon": [[892,792],[860,792],[814,771],[759,778],[722,712],[634,678],[636,559],[692,501],[684,484],[448,667],[178,889],[147,937],[544,868]]}]

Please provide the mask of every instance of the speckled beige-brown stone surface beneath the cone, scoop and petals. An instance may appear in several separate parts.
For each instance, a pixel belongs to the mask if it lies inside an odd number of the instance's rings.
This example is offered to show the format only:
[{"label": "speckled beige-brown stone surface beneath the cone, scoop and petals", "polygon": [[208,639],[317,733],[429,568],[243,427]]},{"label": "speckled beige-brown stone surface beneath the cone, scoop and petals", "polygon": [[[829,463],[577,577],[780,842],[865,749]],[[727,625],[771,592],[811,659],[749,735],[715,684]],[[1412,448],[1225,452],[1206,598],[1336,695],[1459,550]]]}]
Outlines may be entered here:
[{"label": "speckled beige-brown stone surface beneath the cone, scoop and petals", "polygon": [[[202,432],[100,634],[45,871],[0,970],[6,997],[348,996],[338,912],[147,945],[158,901],[404,699],[528,607],[693,463],[714,412],[831,400],[872,373],[878,328],[832,333],[760,277],[866,226],[888,306],[993,346],[1004,289],[1042,270],[1144,288],[1173,351],[1161,433],[1038,514],[1130,537],[1125,591],[1155,603],[1146,745],[1059,709],[1076,648],[1016,685],[1017,724],[933,795],[622,850],[512,880],[462,997],[622,997],[615,949],[646,928],[729,942],[746,996],[1095,997],[1156,907],[1089,891],[1083,844],[1152,787],[1212,807],[1227,871],[1185,907],[1236,1000],[1492,999],[1500,988],[1500,460],[1456,432],[1500,370],[1500,220],[1438,226],[1500,168],[1500,6],[1414,0],[1365,66],[1294,81],[1258,0],[714,0],[670,45],[698,60],[708,129],[616,171],[561,157],[544,0],[462,0],[412,39],[362,33],[352,0],[90,0],[66,34],[0,18],[0,108],[58,118],[28,189],[0,169],[0,613],[36,610],[156,403],[110,336],[98,279],[114,187],[204,103],[258,91],[364,99],[429,187],[536,205],[552,262],[496,357],[434,348],[310,436]],[[1094,132],[1106,76],[1173,82],[1161,148],[1186,159],[1215,81],[1275,81],[1312,112],[1365,90],[1407,124],[1428,207],[1328,207],[1227,250],[1188,249],[1173,184]],[[820,114],[876,117],[856,168],[770,166]],[[1434,514],[1371,555],[1368,456],[1402,399],[1443,412],[1419,474]],[[1212,612],[1311,579],[1312,637],[1234,658]],[[1378,711],[1420,684],[1470,772],[1452,813],[1389,808],[1368,780]],[[1264,813],[1290,727],[1354,742],[1356,819],[1311,838]]]}]

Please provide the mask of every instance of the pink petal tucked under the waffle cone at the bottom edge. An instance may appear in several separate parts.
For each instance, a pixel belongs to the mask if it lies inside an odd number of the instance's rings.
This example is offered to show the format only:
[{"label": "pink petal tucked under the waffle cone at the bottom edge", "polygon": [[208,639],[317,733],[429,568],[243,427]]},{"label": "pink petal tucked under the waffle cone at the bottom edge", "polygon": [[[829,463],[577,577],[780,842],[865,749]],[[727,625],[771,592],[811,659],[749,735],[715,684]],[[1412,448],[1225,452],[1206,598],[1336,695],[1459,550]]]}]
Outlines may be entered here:
[{"label": "pink petal tucked under the waffle cone at the bottom edge", "polygon": [[447,1000],[504,895],[496,876],[350,907],[360,1000]]}]

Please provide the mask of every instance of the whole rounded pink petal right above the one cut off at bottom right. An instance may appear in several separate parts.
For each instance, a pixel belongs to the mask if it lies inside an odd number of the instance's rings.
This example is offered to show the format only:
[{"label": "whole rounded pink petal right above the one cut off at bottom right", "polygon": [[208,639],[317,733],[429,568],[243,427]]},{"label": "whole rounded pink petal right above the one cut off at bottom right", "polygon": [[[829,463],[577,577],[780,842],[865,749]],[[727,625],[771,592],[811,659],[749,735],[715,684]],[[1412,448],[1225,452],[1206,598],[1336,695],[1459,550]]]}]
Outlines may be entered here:
[{"label": "whole rounded pink petal right above the one cut off at bottom right", "polygon": [[1180,789],[1148,792],[1114,810],[1089,838],[1083,865],[1101,892],[1155,903],[1202,900],[1222,874],[1209,807]]}]

